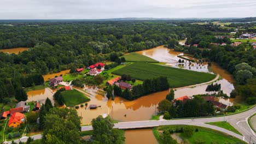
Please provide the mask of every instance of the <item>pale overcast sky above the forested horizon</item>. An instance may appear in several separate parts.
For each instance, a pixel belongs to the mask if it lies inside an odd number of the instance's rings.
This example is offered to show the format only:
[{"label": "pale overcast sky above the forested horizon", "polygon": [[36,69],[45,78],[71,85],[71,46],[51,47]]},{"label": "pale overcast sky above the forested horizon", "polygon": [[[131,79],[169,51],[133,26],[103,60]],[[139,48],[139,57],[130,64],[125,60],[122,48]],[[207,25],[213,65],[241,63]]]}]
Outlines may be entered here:
[{"label": "pale overcast sky above the forested horizon", "polygon": [[256,0],[0,0],[0,19],[255,16]]}]

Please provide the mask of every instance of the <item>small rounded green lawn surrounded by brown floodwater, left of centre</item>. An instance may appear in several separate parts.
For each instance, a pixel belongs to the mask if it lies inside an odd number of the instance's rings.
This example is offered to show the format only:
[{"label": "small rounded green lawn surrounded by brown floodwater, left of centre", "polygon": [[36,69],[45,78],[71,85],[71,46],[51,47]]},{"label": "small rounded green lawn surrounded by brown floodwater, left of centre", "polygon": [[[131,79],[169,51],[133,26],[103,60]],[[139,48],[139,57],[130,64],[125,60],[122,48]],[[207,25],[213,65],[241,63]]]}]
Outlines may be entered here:
[{"label": "small rounded green lawn surrounded by brown floodwater, left of centre", "polygon": [[90,101],[88,97],[86,97],[83,93],[80,93],[75,89],[72,89],[70,91],[63,91],[61,92],[61,94],[64,98],[66,106],[75,106]]}]

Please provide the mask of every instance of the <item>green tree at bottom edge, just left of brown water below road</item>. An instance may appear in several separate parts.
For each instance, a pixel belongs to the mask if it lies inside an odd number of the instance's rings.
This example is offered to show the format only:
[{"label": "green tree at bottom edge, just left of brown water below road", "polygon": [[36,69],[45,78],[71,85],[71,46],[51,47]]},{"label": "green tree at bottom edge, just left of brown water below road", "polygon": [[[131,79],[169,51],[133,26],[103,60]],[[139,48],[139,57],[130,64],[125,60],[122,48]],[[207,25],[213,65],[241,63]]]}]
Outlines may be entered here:
[{"label": "green tree at bottom edge, just left of brown water below road", "polygon": [[109,117],[98,116],[92,119],[94,129],[91,140],[94,143],[124,143],[124,136],[118,129],[113,129],[114,124]]}]

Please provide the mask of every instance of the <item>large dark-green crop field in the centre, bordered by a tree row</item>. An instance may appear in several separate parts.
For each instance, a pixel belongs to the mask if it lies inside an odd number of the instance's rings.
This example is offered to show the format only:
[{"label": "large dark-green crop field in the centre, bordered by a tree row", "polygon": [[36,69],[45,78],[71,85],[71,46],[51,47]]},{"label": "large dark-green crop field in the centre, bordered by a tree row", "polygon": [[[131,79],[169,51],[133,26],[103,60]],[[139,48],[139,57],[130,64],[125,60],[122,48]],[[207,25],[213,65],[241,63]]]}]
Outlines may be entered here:
[{"label": "large dark-green crop field in the centre, bordered by a tree row", "polygon": [[138,80],[152,79],[154,77],[166,76],[170,87],[183,87],[197,83],[207,82],[214,79],[216,75],[200,73],[192,70],[165,67],[158,64],[137,62],[124,68],[113,71],[115,75],[127,74]]}]

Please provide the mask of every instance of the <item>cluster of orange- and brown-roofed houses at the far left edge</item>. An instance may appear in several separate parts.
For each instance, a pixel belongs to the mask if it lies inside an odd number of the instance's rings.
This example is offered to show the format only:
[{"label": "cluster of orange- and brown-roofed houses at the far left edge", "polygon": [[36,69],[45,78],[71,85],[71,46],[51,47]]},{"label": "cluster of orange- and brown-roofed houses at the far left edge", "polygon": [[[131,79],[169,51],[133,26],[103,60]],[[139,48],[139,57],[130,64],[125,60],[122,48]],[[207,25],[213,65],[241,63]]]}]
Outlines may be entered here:
[{"label": "cluster of orange- and brown-roofed houses at the far left edge", "polygon": [[[40,109],[40,103],[36,103],[34,105],[33,111]],[[5,119],[8,116],[10,116],[10,119],[8,121],[8,127],[16,128],[21,123],[25,123],[25,116],[23,113],[29,112],[30,106],[27,105],[26,101],[20,101],[18,104],[16,104],[15,108],[10,109],[9,111],[3,111],[1,113],[1,119]]]}]

